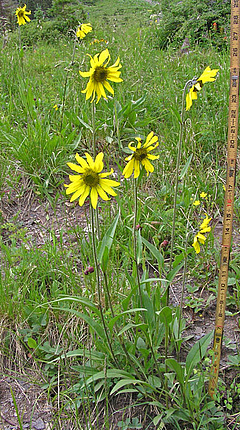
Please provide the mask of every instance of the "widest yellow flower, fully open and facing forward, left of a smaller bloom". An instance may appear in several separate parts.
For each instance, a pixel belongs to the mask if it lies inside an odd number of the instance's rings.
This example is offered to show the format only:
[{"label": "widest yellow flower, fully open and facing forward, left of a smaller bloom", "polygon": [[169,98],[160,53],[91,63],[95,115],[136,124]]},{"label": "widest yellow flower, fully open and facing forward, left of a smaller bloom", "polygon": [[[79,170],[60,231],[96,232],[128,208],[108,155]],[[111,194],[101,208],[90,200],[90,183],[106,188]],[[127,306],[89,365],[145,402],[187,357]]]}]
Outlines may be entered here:
[{"label": "widest yellow flower, fully open and facing forward, left of a smaller bloom", "polygon": [[75,158],[79,165],[74,163],[67,163],[70,169],[79,173],[78,175],[69,175],[71,181],[70,184],[66,185],[66,194],[72,194],[70,199],[71,202],[79,198],[79,205],[82,206],[86,198],[90,194],[91,205],[94,209],[97,207],[98,196],[103,200],[110,200],[107,193],[110,196],[116,196],[115,191],[112,187],[118,187],[120,182],[113,181],[111,179],[105,179],[107,176],[112,175],[113,169],[110,172],[101,173],[103,164],[103,152],[100,152],[95,161],[92,157],[85,153],[86,159],[76,154]]}]

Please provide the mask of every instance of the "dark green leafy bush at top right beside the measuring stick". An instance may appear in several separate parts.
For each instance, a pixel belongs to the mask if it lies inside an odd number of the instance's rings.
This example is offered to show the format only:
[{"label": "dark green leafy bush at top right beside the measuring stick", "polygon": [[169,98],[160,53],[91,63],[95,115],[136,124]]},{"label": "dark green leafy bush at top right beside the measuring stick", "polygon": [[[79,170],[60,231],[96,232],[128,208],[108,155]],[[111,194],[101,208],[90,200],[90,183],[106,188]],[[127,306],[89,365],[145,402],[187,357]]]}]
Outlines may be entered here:
[{"label": "dark green leafy bush at top right beside the measuring stick", "polygon": [[161,49],[169,43],[179,46],[186,37],[190,45],[227,46],[230,23],[230,2],[226,0],[163,0],[157,40]]}]

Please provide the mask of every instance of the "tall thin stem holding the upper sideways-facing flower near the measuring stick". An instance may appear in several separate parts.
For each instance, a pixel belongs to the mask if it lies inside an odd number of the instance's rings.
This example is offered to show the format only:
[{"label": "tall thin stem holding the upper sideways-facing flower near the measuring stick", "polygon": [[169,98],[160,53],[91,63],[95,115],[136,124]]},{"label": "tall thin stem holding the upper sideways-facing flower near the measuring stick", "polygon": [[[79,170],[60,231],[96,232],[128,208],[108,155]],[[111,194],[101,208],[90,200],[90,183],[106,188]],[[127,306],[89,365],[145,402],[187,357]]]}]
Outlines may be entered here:
[{"label": "tall thin stem holding the upper sideways-facing flower near the measuring stick", "polygon": [[[181,111],[181,120],[180,120],[180,134],[179,134],[179,142],[178,142],[178,153],[177,153],[177,165],[176,165],[176,178],[175,178],[175,187],[174,187],[174,199],[173,199],[173,223],[172,223],[172,237],[171,237],[171,250],[170,250],[170,262],[169,262],[169,272],[172,270],[172,262],[173,262],[173,246],[175,241],[175,228],[176,228],[176,215],[177,215],[177,195],[178,195],[178,184],[179,184],[179,169],[181,162],[181,153],[182,153],[182,141],[183,141],[183,131],[184,131],[184,113],[185,113],[185,98],[186,91],[188,86],[192,83],[192,80],[187,81],[185,87],[183,89],[182,96],[182,111]],[[170,285],[167,286],[167,305],[169,304],[169,291]]]}]

